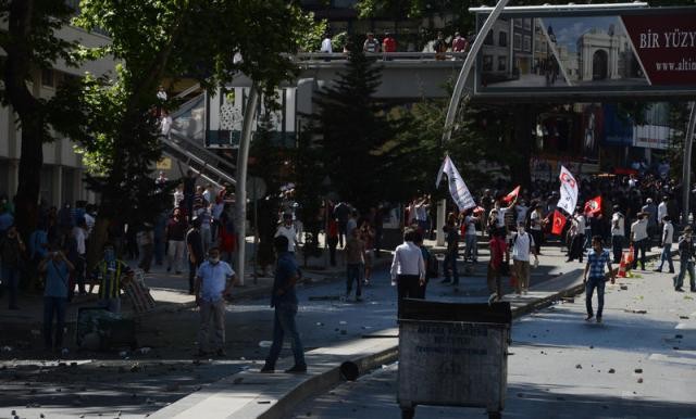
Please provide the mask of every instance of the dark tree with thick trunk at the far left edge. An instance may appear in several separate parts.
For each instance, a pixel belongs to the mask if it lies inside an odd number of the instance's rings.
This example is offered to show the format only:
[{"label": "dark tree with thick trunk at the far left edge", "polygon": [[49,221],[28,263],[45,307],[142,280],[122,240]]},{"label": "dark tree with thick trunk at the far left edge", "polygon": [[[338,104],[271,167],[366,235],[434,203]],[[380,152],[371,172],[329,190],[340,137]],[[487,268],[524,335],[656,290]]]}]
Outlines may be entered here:
[{"label": "dark tree with thick trunk at the far left edge", "polygon": [[0,31],[0,48],[5,53],[0,61],[4,84],[0,99],[2,104],[12,106],[22,129],[16,223],[24,234],[37,223],[42,145],[55,140],[54,135],[60,132],[53,115],[61,100],[59,96],[48,100],[35,97],[28,82],[35,81],[36,69],[52,68],[59,60],[76,64],[77,45],[55,35],[73,12],[63,1],[0,1],[0,20],[8,25]]}]

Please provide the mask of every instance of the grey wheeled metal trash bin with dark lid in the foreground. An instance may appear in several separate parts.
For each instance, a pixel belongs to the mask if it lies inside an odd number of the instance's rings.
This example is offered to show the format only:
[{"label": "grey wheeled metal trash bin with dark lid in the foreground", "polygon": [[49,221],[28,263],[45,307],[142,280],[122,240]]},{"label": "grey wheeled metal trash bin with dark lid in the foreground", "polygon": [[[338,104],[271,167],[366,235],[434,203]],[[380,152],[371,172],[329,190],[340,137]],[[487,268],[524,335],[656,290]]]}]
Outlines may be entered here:
[{"label": "grey wheeled metal trash bin with dark lid in the foreground", "polygon": [[402,418],[413,418],[417,405],[484,407],[489,418],[500,418],[510,303],[401,304],[397,401]]}]

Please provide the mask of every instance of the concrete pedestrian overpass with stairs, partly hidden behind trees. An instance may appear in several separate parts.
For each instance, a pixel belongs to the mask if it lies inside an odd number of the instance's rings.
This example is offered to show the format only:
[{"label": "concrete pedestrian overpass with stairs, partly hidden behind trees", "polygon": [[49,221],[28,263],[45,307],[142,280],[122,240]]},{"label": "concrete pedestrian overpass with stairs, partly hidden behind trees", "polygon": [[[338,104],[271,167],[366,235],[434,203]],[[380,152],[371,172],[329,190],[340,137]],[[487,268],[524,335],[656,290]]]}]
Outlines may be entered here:
[{"label": "concrete pedestrian overpass with stairs, partly hidden behind trees", "polygon": [[[465,53],[391,52],[368,54],[382,69],[382,82],[375,98],[397,102],[423,98],[447,98],[448,82],[456,79]],[[345,53],[300,53],[293,55],[299,72],[294,80],[278,89],[281,111],[273,113],[273,129],[278,141],[294,143],[301,114],[312,114],[313,98],[324,86],[337,80],[348,69]],[[214,185],[235,185],[236,165],[221,156],[224,149],[239,144],[246,99],[251,80],[245,75],[234,78],[229,94],[199,93],[172,113],[173,128],[162,137],[164,153],[184,172],[191,167]],[[179,93],[187,97],[199,89],[194,86]],[[263,106],[263,105],[261,105]]]}]

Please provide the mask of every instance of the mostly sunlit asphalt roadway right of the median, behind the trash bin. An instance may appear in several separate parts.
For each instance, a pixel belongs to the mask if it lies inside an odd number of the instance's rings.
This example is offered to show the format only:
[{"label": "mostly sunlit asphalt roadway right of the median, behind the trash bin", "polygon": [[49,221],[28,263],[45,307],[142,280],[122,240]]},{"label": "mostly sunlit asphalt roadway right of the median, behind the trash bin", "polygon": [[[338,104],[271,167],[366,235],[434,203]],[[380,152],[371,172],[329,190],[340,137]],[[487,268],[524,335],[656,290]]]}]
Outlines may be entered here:
[{"label": "mostly sunlit asphalt roadway right of the median, behind the trash bin", "polygon": [[[696,417],[696,293],[674,292],[668,274],[639,276],[608,285],[602,325],[584,321],[584,294],[513,323],[504,417]],[[288,418],[400,418],[397,371],[338,385]],[[415,417],[483,414],[419,406]]]}]

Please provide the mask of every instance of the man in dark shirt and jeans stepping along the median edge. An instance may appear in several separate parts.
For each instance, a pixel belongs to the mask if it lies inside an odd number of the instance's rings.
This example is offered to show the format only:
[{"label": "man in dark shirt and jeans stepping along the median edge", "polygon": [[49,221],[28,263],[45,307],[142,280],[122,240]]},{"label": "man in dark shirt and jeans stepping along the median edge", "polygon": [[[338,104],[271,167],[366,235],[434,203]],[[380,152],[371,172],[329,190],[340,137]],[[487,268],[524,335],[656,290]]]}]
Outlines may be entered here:
[{"label": "man in dark shirt and jeans stepping along the median edge", "polygon": [[271,307],[275,308],[273,321],[273,344],[265,358],[265,364],[260,372],[274,372],[275,363],[283,348],[283,339],[287,334],[293,346],[295,365],[286,369],[288,373],[307,372],[304,361],[304,348],[297,331],[295,316],[297,316],[297,294],[295,284],[301,278],[301,272],[295,261],[295,255],[288,252],[288,240],[284,236],[278,236],[273,240],[273,246],[277,254],[277,265],[275,279],[273,281],[273,295],[271,296]]}]

